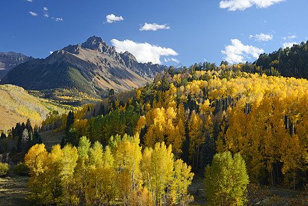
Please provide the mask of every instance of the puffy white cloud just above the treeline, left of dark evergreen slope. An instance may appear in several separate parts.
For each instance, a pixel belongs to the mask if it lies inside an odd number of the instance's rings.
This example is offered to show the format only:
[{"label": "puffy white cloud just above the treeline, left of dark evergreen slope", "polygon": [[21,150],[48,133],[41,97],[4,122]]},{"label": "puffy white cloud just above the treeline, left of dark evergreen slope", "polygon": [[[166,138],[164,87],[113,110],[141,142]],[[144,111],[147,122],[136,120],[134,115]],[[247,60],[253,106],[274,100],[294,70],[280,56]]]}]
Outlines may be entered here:
[{"label": "puffy white cloud just above the treeline, left of dark evergreen slope", "polygon": [[258,58],[259,54],[263,53],[263,49],[259,49],[250,45],[243,45],[237,38],[231,39],[232,45],[225,47],[226,50],[222,50],[222,54],[225,54],[224,60],[231,64],[244,62],[250,60],[250,56]]}]

